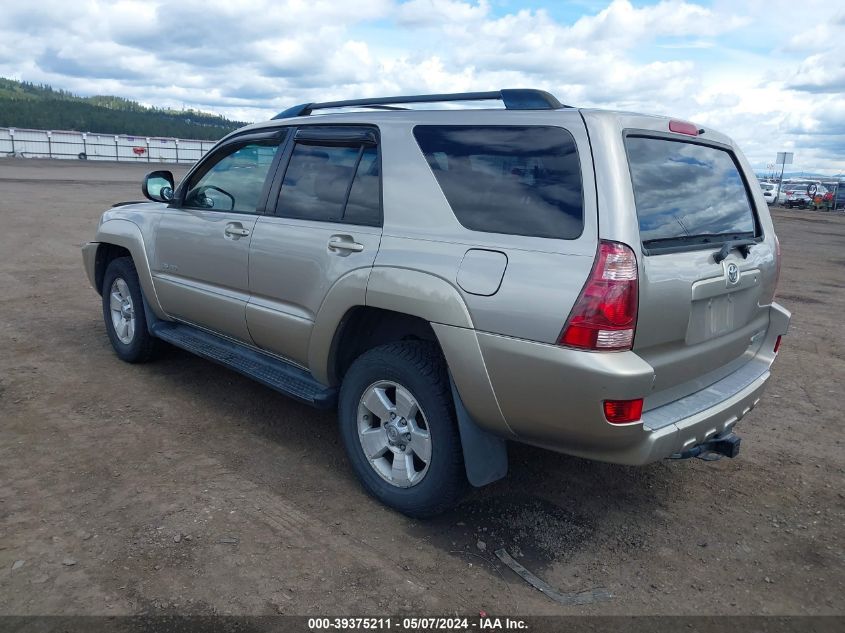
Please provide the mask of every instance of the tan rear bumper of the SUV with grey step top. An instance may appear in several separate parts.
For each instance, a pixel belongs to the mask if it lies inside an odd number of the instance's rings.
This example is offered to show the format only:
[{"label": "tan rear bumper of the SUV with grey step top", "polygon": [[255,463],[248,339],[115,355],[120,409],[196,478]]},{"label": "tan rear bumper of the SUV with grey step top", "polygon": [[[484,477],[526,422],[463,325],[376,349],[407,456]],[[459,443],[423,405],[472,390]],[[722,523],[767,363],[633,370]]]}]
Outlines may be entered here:
[{"label": "tan rear bumper of the SUV with grey step top", "polygon": [[[609,424],[606,399],[647,396],[654,370],[633,352],[601,354],[478,334],[502,416],[519,441],[620,464],[647,464],[730,432],[756,406],[769,379],[775,340],[790,314],[777,304],[759,351],[695,393],[653,408],[641,423]],[[463,394],[462,394],[463,396]]]}]

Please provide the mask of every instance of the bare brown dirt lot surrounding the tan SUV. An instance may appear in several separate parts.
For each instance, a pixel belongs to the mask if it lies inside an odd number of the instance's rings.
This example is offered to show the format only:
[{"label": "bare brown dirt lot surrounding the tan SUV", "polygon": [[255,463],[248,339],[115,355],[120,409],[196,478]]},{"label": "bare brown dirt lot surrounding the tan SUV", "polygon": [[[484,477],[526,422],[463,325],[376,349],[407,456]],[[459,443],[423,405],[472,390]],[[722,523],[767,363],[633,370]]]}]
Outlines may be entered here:
[{"label": "bare brown dirt lot surrounding the tan SUV", "polygon": [[[418,522],[361,491],[332,412],[176,349],[115,357],[79,247],[148,169],[0,160],[0,613],[845,612],[842,215],[775,212],[793,325],[740,458],[512,446],[505,481]],[[559,606],[502,545],[613,598]]]}]

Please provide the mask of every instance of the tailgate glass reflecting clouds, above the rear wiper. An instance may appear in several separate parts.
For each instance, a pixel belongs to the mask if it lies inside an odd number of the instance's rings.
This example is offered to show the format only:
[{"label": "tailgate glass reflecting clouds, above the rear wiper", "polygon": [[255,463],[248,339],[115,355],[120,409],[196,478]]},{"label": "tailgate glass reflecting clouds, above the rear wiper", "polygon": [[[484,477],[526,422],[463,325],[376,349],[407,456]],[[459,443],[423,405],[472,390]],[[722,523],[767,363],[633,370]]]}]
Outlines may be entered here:
[{"label": "tailgate glass reflecting clouds, above the rear wiper", "polygon": [[727,151],[638,136],[625,145],[644,246],[755,236],[748,191]]}]

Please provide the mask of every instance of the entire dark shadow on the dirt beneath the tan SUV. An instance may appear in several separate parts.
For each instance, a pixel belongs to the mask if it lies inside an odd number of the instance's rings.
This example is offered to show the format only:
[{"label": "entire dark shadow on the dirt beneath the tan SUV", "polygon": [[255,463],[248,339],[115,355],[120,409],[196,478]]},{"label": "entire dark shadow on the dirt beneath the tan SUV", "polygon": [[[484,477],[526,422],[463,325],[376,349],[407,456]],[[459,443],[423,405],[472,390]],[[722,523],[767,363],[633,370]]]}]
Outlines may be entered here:
[{"label": "entire dark shadow on the dirt beneath the tan SUV", "polygon": [[[214,403],[218,415],[202,422],[215,427],[214,434],[231,433],[224,425],[237,420],[239,432],[251,444],[249,452],[243,442],[217,450],[251,479],[274,487],[289,481],[295,471],[289,459],[280,457],[283,448],[286,455],[300,456],[310,473],[298,473],[297,487],[308,490],[313,487],[310,480],[316,480],[319,492],[342,500],[344,507],[364,504],[381,509],[367,497],[347,464],[334,410],[312,409],[170,346],[154,363],[153,372],[165,376],[173,388]],[[670,529],[672,505],[683,497],[683,488],[694,475],[688,462],[621,466],[516,443],[509,443],[508,451],[507,477],[469,488],[455,509],[426,520],[406,520],[388,512],[383,520],[452,556],[480,556],[490,563],[488,567],[499,569],[494,552],[504,548],[538,571],[586,549],[646,548],[655,530]],[[322,513],[319,508],[312,511]]]}]

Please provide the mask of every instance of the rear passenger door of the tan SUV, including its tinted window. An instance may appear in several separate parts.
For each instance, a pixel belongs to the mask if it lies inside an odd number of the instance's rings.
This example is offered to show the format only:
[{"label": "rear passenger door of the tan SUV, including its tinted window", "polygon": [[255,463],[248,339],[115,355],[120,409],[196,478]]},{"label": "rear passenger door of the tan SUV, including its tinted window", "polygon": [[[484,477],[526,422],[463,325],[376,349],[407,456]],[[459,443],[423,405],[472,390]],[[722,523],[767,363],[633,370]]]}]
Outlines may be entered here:
[{"label": "rear passenger door of the tan SUV, including its tinted window", "polygon": [[[381,240],[381,164],[374,128],[306,126],[274,182],[274,212],[250,246],[246,309],[256,345],[303,367],[320,305],[342,277],[372,268]],[[278,192],[276,194],[276,192]],[[364,288],[360,303],[364,303]]]}]

